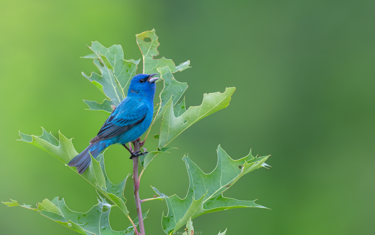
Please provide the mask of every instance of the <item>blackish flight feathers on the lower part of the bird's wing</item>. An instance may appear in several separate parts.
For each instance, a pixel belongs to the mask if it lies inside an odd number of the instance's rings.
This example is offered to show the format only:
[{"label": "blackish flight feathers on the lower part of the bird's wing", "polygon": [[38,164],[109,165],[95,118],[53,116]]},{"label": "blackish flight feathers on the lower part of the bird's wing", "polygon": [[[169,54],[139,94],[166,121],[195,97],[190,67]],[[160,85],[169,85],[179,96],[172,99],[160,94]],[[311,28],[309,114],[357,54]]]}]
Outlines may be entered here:
[{"label": "blackish flight feathers on the lower part of the bird's wing", "polygon": [[[92,140],[90,140],[90,144],[101,141],[101,140],[108,140],[110,138],[116,137],[117,135],[123,134],[133,126],[143,122],[146,115],[143,115],[141,119],[139,119],[136,122],[133,122],[129,125],[125,126],[118,126],[115,125],[111,120],[113,119],[113,116],[108,117],[107,121],[103,124],[102,128],[98,132],[98,135],[94,137]],[[116,119],[116,123],[121,124],[123,122],[127,122],[129,120],[127,119]]]}]

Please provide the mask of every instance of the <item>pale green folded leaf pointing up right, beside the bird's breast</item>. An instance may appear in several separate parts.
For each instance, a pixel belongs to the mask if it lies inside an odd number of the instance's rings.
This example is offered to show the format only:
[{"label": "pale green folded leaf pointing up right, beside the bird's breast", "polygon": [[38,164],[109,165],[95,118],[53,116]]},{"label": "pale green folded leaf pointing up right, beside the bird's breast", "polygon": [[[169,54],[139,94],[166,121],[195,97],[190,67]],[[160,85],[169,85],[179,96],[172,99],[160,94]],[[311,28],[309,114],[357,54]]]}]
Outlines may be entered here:
[{"label": "pale green folded leaf pointing up right, beside the bird's breast", "polygon": [[174,116],[172,98],[169,99],[165,105],[166,110],[163,114],[163,121],[160,127],[159,148],[165,147],[195,122],[228,106],[231,95],[235,90],[236,88],[231,87],[226,88],[224,93],[204,94],[201,105],[189,107],[186,112],[178,117]]}]

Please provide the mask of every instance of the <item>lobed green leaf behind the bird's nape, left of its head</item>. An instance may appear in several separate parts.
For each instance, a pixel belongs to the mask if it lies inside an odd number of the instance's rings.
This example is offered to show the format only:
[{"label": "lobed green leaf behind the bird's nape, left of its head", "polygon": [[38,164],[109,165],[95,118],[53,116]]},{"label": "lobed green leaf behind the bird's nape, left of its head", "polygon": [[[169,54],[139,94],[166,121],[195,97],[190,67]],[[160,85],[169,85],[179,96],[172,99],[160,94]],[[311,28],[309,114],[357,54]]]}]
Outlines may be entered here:
[{"label": "lobed green leaf behind the bird's nape, left of its head", "polygon": [[93,72],[89,77],[84,73],[82,74],[96,85],[111,100],[112,104],[117,106],[126,97],[130,80],[137,69],[137,63],[135,63],[137,61],[124,60],[121,45],[105,48],[95,41],[89,48],[95,54],[83,58],[94,59],[94,64],[99,68],[102,75]]}]

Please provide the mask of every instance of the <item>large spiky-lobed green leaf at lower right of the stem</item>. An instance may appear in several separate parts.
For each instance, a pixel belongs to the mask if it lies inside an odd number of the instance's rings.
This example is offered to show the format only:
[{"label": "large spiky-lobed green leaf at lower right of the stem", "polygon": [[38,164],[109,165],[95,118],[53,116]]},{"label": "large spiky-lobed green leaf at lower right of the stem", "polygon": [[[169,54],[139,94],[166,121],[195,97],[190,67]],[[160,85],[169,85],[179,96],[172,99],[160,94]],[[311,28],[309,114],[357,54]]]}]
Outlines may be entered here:
[{"label": "large spiky-lobed green leaf at lower right of the stem", "polygon": [[202,214],[228,210],[241,207],[259,207],[254,201],[240,201],[233,198],[225,198],[222,193],[232,186],[243,175],[260,168],[269,156],[255,158],[251,152],[244,158],[233,160],[220,147],[217,148],[217,165],[210,173],[205,174],[184,156],[187,173],[189,175],[189,191],[184,199],[177,195],[166,196],[153,187],[159,198],[164,199],[168,205],[167,216],[162,216],[162,227],[166,234],[172,234],[188,222]]}]

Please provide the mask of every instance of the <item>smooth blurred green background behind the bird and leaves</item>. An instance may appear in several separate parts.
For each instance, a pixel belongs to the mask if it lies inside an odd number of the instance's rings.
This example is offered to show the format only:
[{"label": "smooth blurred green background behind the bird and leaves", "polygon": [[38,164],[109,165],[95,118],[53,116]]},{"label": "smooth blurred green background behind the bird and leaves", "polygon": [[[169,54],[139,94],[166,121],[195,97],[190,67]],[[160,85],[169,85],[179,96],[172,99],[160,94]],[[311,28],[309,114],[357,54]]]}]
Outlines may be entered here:
[{"label": "smooth blurred green background behind the bird and leaves", "polygon": [[[95,189],[37,147],[16,141],[18,130],[40,135],[43,126],[73,138],[78,152],[107,115],[85,110],[83,99],[104,95],[81,75],[97,71],[86,45],[121,44],[139,59],[135,34],[156,29],[161,56],[192,68],[175,73],[187,82],[187,106],[205,92],[236,86],[230,105],[175,139],[178,147],[145,171],[166,195],[186,195],[184,153],[209,173],[221,144],[234,158],[249,150],[272,156],[273,168],[247,174],[227,197],[258,199],[272,210],[240,208],[193,220],[195,231],[217,234],[374,234],[375,1],[5,1],[0,8],[0,200],[26,204],[64,197],[76,211],[96,204]],[[140,70],[138,70],[140,72]],[[160,91],[160,83],[159,91]],[[152,133],[158,132],[159,125]],[[148,141],[154,149],[157,141]],[[132,170],[122,146],[107,150],[114,183]],[[136,217],[132,180],[127,207]],[[164,234],[164,201],[150,209],[147,234]],[[118,208],[111,226],[127,228]],[[21,207],[0,205],[1,234],[76,232]]]}]

